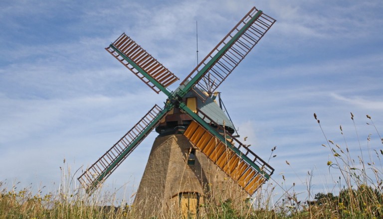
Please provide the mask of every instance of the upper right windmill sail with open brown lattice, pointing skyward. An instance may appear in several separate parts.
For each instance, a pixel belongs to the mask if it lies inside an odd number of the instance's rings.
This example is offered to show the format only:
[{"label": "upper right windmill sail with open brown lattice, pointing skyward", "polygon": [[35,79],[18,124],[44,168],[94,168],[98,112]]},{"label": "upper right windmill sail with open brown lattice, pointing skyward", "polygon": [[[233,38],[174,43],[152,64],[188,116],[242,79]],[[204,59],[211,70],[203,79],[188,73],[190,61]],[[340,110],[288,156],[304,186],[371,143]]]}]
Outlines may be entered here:
[{"label": "upper right windmill sail with open brown lattice, pointing skyward", "polygon": [[[181,84],[187,91],[197,86],[210,96],[274,22],[275,19],[253,7]],[[210,84],[203,83],[206,81]]]}]

